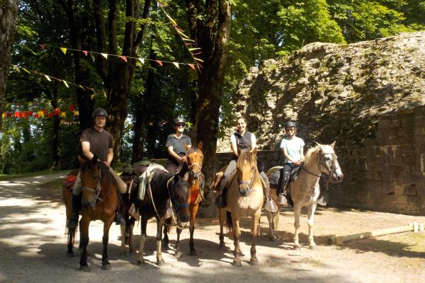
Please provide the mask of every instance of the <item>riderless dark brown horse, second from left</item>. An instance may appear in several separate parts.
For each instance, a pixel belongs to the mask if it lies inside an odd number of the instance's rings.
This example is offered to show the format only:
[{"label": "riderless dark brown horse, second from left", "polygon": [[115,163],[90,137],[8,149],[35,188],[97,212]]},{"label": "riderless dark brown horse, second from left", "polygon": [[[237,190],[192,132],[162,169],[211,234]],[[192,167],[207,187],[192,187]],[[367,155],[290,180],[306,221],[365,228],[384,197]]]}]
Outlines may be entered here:
[{"label": "riderless dark brown horse, second from left", "polygon": [[130,198],[132,203],[136,204],[140,216],[142,216],[140,236],[139,257],[137,265],[145,265],[144,250],[147,239],[146,226],[147,221],[152,217],[157,219],[157,264],[164,265],[162,258],[161,240],[162,226],[166,213],[166,204],[168,200],[176,210],[177,221],[187,222],[189,220],[188,198],[189,184],[187,179],[183,179],[178,174],[173,175],[168,171],[157,169],[152,174],[152,180],[147,184],[146,195],[143,200],[139,200],[139,190],[133,190]]}]

